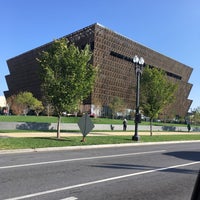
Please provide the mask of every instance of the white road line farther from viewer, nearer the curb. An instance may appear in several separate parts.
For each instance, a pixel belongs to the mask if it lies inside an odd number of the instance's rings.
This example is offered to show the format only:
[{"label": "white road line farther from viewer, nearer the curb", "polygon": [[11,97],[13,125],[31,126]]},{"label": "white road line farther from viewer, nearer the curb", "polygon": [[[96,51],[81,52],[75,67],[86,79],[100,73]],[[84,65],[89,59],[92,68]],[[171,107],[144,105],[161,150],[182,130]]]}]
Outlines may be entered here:
[{"label": "white road line farther from viewer, nearer the curb", "polygon": [[141,154],[152,154],[152,153],[161,153],[161,152],[164,152],[164,151],[166,151],[166,150],[147,151],[147,152],[138,152],[138,153],[126,153],[126,154],[107,155],[107,156],[95,156],[95,157],[85,157],[85,158],[72,158],[72,159],[66,159],[66,160],[53,160],[53,161],[38,162],[38,163],[1,166],[0,169],[29,167],[29,166],[36,166],[36,165],[47,165],[47,164],[54,164],[54,163],[63,163],[63,162],[72,162],[72,161],[81,161],[81,160],[92,160],[92,159],[100,159],[100,158],[115,158],[115,157],[133,156],[133,155],[141,155]]}]

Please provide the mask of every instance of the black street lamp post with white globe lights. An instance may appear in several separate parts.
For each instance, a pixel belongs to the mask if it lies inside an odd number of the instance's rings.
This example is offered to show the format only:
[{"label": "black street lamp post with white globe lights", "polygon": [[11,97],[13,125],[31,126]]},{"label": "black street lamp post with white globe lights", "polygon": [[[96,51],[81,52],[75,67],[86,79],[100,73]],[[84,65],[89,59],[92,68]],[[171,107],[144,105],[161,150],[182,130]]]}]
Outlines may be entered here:
[{"label": "black street lamp post with white globe lights", "polygon": [[138,58],[137,55],[134,56],[133,62],[135,64],[135,73],[136,73],[136,108],[135,108],[135,134],[132,137],[132,140],[138,141],[138,123],[141,122],[140,114],[140,76],[143,71],[144,59],[142,57]]}]

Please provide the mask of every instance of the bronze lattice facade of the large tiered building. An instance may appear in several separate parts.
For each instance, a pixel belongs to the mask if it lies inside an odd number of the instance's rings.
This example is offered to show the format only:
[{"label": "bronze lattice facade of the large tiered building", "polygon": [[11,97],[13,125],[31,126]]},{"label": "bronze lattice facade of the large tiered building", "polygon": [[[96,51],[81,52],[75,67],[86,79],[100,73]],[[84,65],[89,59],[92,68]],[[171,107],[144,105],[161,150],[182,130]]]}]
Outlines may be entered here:
[{"label": "bronze lattice facade of the large tiered building", "polygon": [[[192,100],[188,99],[192,84],[188,83],[192,68],[164,56],[152,49],[140,45],[99,24],[65,36],[80,48],[90,44],[93,51],[92,62],[99,67],[94,91],[85,101],[89,109],[96,104],[109,105],[114,96],[120,97],[127,109],[135,109],[135,69],[132,58],[142,56],[145,63],[163,69],[169,79],[178,83],[175,102],[165,109],[166,116],[185,116]],[[36,61],[38,53],[48,48],[51,43],[28,51],[7,61],[10,75],[6,76],[9,90],[5,96],[19,91],[30,91],[41,98],[39,68]],[[91,106],[92,105],[92,106]]]}]

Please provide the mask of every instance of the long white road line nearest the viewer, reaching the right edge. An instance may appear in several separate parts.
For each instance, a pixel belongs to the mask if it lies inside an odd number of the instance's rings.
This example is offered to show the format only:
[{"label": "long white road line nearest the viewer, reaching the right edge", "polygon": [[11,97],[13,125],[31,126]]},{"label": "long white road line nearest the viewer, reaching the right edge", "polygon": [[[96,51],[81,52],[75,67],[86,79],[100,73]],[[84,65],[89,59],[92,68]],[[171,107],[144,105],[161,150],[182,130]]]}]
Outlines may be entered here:
[{"label": "long white road line nearest the viewer, reaching the right edge", "polygon": [[108,181],[123,179],[123,178],[127,178],[127,177],[133,177],[133,176],[138,176],[138,175],[143,175],[143,174],[148,174],[148,173],[153,173],[153,172],[158,172],[158,171],[164,171],[164,170],[173,169],[173,168],[185,167],[185,166],[189,166],[189,165],[196,165],[199,163],[200,163],[200,161],[196,161],[196,162],[190,162],[190,163],[185,163],[185,164],[180,164],[180,165],[163,167],[163,168],[159,168],[159,169],[152,169],[152,170],[147,170],[147,171],[142,171],[142,172],[136,172],[136,173],[132,173],[132,174],[125,174],[122,176],[115,176],[115,177],[111,177],[111,178],[100,179],[100,180],[91,181],[91,182],[87,182],[87,183],[71,185],[71,186],[67,186],[67,187],[57,188],[57,189],[53,189],[53,190],[47,190],[47,191],[43,191],[43,192],[28,194],[25,196],[19,196],[19,197],[4,199],[4,200],[20,200],[20,199],[25,199],[25,198],[31,198],[31,197],[41,196],[41,195],[50,194],[50,193],[54,193],[54,192],[61,192],[64,190],[70,190],[70,189],[80,188],[80,187],[94,185],[94,184],[98,184],[98,183],[104,183],[104,182],[108,182]]}]

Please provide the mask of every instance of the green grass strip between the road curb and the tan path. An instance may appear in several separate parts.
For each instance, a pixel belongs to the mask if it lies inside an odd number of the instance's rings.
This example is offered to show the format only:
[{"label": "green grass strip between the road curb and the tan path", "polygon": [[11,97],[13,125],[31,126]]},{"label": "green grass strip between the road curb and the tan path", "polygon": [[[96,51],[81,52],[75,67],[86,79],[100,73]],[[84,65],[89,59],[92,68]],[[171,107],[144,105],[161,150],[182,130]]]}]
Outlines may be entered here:
[{"label": "green grass strip between the road curb and the tan path", "polygon": [[[26,149],[26,148],[45,148],[45,147],[64,147],[64,146],[84,146],[99,144],[122,144],[135,143],[131,136],[87,136],[86,142],[80,142],[81,136],[41,138],[0,138],[0,150]],[[187,141],[200,140],[200,135],[155,135],[141,136],[140,143],[143,142],[163,142],[163,141]]]}]

